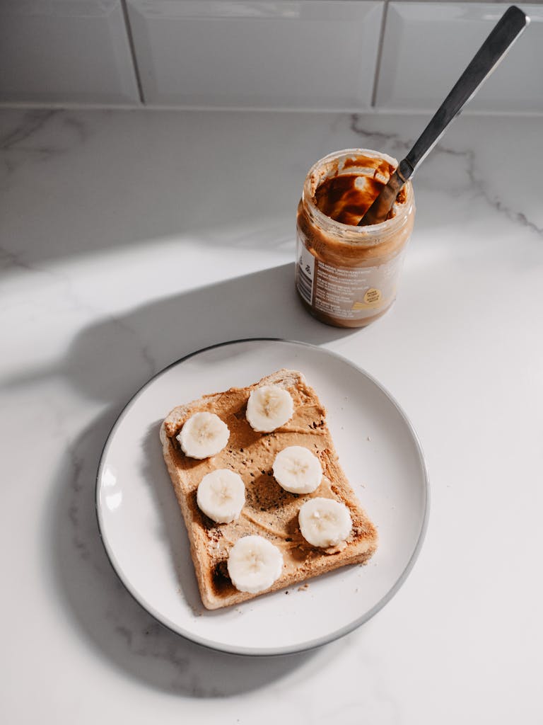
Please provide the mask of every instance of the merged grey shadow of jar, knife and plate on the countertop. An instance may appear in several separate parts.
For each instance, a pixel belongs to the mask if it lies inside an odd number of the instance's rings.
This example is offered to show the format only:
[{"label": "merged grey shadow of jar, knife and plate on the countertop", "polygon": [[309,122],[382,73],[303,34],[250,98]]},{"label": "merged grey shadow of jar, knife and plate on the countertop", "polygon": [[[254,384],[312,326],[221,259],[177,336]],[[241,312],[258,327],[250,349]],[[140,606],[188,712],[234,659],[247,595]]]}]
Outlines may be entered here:
[{"label": "merged grey shadow of jar, knife and plate on the countertop", "polygon": [[[83,330],[67,355],[36,376],[63,376],[101,415],[69,445],[47,521],[54,576],[77,634],[128,676],[190,697],[227,697],[285,676],[310,660],[329,663],[348,639],[296,655],[252,658],[207,650],[154,620],[114,573],[98,534],[95,485],[106,437],[127,399],[153,373],[201,347],[251,336],[324,343],[353,334],[313,320],[282,265],[138,307]],[[25,384],[21,377],[11,382]],[[150,421],[150,425],[156,421]],[[165,531],[172,531],[166,521]]]}]

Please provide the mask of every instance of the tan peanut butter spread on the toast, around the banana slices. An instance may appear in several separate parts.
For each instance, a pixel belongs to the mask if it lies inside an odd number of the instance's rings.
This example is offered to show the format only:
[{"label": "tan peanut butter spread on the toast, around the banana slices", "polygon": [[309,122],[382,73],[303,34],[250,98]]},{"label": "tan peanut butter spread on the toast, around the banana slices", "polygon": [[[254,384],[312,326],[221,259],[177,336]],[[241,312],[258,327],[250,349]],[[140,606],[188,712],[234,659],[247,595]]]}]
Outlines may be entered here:
[{"label": "tan peanut butter spread on the toast, around the banana slices", "polygon": [[[184,484],[183,496],[193,515],[193,527],[198,528],[198,533],[205,531],[206,552],[216,593],[233,588],[227,576],[228,552],[237,539],[247,534],[260,534],[279,547],[285,563],[283,579],[289,579],[294,569],[311,567],[314,560],[340,552],[349,542],[375,536],[374,527],[364,517],[340,469],[324,407],[311,388],[304,384],[291,386],[288,390],[294,401],[294,414],[285,426],[268,434],[253,431],[245,418],[248,389],[233,388],[223,394],[203,398],[197,407],[188,406],[177,421],[167,423],[166,433],[174,449],[174,463],[182,471],[183,481],[188,482]],[[197,410],[216,413],[230,429],[227,447],[205,460],[185,456],[175,437],[185,420]],[[324,476],[312,494],[289,493],[274,479],[272,465],[275,456],[292,445],[306,447],[319,457]],[[206,473],[217,468],[229,468],[239,473],[245,484],[245,506],[240,518],[231,523],[211,521],[196,503],[198,484]],[[300,534],[300,505],[316,496],[339,500],[350,509],[353,529],[342,546],[317,549]]]}]

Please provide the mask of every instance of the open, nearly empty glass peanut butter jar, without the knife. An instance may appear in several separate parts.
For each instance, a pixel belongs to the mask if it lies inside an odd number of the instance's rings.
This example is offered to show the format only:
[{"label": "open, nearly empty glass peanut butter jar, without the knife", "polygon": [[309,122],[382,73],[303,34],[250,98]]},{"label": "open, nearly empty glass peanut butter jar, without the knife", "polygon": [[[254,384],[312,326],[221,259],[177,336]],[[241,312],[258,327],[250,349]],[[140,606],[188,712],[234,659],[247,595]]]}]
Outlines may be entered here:
[{"label": "open, nearly empty glass peanut butter jar, without the knife", "polygon": [[405,184],[380,224],[358,226],[397,161],[369,149],[345,149],[311,167],[298,204],[296,288],[321,322],[363,327],[396,297],[415,200]]}]

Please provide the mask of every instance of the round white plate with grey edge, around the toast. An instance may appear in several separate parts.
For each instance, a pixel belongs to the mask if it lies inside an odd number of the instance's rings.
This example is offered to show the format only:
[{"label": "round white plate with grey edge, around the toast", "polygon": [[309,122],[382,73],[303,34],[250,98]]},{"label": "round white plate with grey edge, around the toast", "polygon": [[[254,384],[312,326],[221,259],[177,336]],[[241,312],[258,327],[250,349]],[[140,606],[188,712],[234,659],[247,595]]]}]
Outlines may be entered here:
[{"label": "round white plate with grey edge, around the toast", "polygon": [[[367,566],[312,579],[308,589],[291,587],[209,612],[198,595],[159,427],[176,405],[252,384],[279,368],[301,370],[327,407],[342,467],[379,529],[379,549]],[[411,423],[363,370],[311,345],[242,340],[185,357],[135,394],[104,447],[96,506],[115,571],[159,621],[217,650],[284,654],[347,634],[397,592],[421,548],[428,479]]]}]

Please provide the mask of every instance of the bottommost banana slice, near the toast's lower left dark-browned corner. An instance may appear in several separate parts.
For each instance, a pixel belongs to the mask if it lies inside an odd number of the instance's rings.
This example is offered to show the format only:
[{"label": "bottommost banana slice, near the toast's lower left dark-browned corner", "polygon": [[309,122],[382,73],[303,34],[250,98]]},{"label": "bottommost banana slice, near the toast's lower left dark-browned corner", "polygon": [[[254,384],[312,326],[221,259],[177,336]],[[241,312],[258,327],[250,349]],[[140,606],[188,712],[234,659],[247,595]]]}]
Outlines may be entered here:
[{"label": "bottommost banana slice, near the toast's lower left dark-browned corner", "polygon": [[251,535],[235,542],[227,568],[236,589],[258,594],[281,576],[283,555],[264,537]]}]

